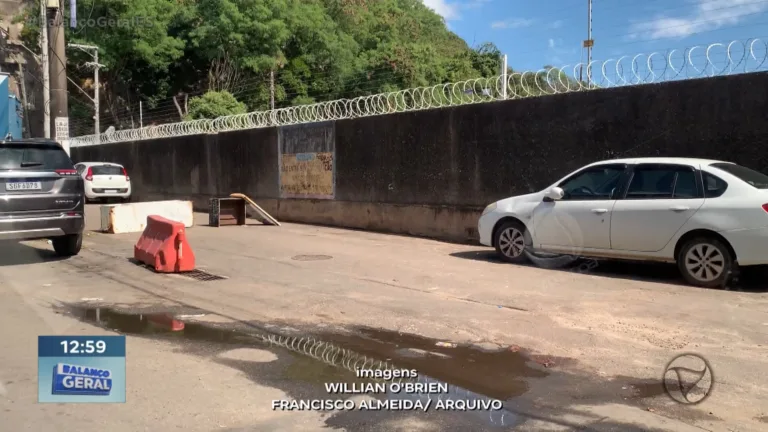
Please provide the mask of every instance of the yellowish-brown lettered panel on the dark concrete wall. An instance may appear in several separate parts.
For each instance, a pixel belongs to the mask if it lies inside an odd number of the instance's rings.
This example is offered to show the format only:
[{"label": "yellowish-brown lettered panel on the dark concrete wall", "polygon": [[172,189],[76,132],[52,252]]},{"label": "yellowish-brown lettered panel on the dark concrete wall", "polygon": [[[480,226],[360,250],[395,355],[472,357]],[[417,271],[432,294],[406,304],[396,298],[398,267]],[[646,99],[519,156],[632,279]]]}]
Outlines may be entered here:
[{"label": "yellowish-brown lettered panel on the dark concrete wall", "polygon": [[333,198],[333,153],[283,154],[280,195],[284,198]]}]

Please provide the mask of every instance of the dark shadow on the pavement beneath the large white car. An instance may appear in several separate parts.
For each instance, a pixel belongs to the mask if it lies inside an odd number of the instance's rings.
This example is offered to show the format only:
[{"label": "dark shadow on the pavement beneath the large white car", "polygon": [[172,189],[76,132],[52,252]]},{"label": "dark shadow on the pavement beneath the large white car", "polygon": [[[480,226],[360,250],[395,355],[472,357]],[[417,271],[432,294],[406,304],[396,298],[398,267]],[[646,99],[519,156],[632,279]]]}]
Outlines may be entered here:
[{"label": "dark shadow on the pavement beneath the large white car", "polygon": [[[503,262],[497,257],[496,252],[492,249],[454,252],[450,255],[456,258],[484,261],[492,264],[507,266],[520,265],[524,267],[537,268],[532,263],[510,264]],[[596,265],[585,266],[584,263],[589,261],[596,263]],[[583,271],[584,268],[589,268],[589,270]],[[680,276],[680,272],[678,271],[677,266],[667,263],[611,260],[595,261],[582,258],[577,262],[562,268],[543,270],[574,272],[591,274],[594,276],[604,276],[609,278],[673,284],[684,286],[686,288],[705,289],[688,285],[682,276]],[[740,271],[741,274],[739,275],[738,280],[729,286],[729,290],[754,293],[763,293],[768,291],[768,266],[743,267],[740,269]]]}]

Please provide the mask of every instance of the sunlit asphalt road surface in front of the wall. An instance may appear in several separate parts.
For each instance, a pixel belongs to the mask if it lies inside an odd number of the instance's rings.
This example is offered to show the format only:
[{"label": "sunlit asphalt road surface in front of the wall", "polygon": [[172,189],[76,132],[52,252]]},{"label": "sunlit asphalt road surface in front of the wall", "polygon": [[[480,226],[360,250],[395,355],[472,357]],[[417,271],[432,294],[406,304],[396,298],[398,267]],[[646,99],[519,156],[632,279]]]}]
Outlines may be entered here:
[{"label": "sunlit asphalt road surface in front of the wall", "polygon": [[[226,279],[136,266],[139,234],[89,231],[67,260],[42,241],[0,248],[2,430],[768,430],[759,283],[703,290],[668,266],[543,270],[466,245],[255,221],[210,228],[197,216],[188,236],[198,268]],[[147,331],[142,317],[153,314],[182,315],[187,328]],[[36,336],[102,333],[128,334],[128,402],[38,404]],[[275,411],[273,400],[327,398],[325,382],[354,377],[302,353],[317,354],[307,343],[291,351],[264,335],[314,337],[417,368],[504,400],[507,417]],[[660,385],[683,352],[705,356],[714,375],[695,406]]]}]

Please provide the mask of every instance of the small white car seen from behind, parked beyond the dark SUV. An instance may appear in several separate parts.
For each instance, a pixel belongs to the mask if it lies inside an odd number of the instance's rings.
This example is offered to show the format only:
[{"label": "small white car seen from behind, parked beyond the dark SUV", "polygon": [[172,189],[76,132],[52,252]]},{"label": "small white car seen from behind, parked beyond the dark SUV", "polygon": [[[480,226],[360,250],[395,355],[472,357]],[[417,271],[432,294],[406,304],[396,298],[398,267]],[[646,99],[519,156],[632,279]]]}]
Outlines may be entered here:
[{"label": "small white car seen from behind, parked beyond the dark SUV", "polygon": [[131,199],[131,178],[120,164],[108,162],[79,162],[75,165],[78,174],[85,180],[85,197],[88,200],[120,201]]}]

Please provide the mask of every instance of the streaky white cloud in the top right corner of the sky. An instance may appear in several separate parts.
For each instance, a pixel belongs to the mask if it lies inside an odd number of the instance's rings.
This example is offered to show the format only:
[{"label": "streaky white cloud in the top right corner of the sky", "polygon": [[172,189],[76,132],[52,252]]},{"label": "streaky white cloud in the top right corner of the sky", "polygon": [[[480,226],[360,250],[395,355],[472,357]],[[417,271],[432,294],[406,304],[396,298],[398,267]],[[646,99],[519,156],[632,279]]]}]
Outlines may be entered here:
[{"label": "streaky white cloud in the top right corner of the sky", "polygon": [[694,33],[735,25],[750,15],[768,10],[768,2],[755,0],[694,0],[694,10],[687,15],[660,15],[652,21],[632,24],[629,39],[684,38]]}]

